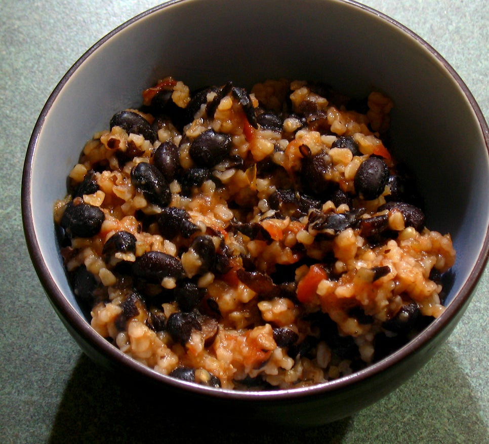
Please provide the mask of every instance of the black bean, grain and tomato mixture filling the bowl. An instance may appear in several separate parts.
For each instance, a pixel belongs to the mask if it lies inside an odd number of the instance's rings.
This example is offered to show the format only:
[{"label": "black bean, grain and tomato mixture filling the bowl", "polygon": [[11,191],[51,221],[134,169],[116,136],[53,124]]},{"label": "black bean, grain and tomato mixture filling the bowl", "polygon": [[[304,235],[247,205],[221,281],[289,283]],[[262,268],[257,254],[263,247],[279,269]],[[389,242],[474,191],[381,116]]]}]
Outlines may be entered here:
[{"label": "black bean, grain and tomato mixture filling the bowl", "polygon": [[456,254],[387,148],[392,107],[286,79],[145,90],[55,204],[92,327],[157,372],[238,390],[319,384],[408,342],[443,312]]}]

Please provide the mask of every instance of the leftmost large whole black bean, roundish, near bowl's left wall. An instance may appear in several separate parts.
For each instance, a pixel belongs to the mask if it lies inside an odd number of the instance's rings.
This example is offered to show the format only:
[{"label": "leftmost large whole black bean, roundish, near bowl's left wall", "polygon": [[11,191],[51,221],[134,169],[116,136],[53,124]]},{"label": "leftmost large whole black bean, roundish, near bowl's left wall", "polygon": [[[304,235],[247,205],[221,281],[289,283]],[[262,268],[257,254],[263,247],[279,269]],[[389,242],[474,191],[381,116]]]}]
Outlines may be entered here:
[{"label": "leftmost large whole black bean, roundish, near bowl's left wall", "polygon": [[70,202],[61,218],[61,226],[71,237],[92,237],[102,227],[105,215],[99,207]]}]

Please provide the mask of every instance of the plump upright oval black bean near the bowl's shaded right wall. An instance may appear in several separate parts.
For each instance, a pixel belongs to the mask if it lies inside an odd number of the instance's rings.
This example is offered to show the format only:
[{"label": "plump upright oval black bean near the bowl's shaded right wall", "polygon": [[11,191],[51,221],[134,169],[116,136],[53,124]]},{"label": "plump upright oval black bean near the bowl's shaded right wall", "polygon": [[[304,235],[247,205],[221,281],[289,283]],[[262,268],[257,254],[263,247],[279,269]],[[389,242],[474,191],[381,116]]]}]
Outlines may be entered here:
[{"label": "plump upright oval black bean near the bowl's shaded right wall", "polygon": [[383,192],[389,180],[389,167],[379,157],[369,157],[358,168],[353,185],[358,196],[365,200],[373,200]]}]

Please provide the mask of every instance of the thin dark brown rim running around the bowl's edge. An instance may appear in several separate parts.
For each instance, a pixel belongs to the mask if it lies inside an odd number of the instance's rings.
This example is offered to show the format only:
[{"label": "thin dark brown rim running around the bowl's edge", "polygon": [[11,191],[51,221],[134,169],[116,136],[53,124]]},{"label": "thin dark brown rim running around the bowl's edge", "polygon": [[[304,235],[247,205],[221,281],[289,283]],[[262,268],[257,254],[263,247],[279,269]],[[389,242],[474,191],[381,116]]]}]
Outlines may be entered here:
[{"label": "thin dark brown rim running around the bowl's edge", "polygon": [[[229,390],[229,389],[215,389],[211,387],[206,387],[202,385],[198,385],[195,383],[189,383],[186,381],[181,381],[176,378],[172,378],[166,375],[162,375],[155,370],[140,364],[135,359],[129,357],[125,353],[121,352],[117,347],[110,344],[106,339],[100,336],[95,330],[90,326],[89,322],[78,313],[74,307],[70,304],[70,302],[63,296],[60,289],[54,284],[53,279],[51,279],[50,271],[46,265],[46,262],[43,259],[43,252],[39,247],[39,243],[37,241],[35,230],[34,230],[34,221],[33,215],[30,206],[30,196],[32,192],[32,165],[33,158],[36,152],[37,140],[40,132],[42,131],[44,122],[46,120],[47,115],[49,114],[53,104],[56,101],[56,98],[63,90],[65,84],[68,82],[69,78],[73,75],[73,73],[84,63],[84,61],[97,49],[102,46],[106,41],[112,38],[114,35],[119,33],[121,30],[129,27],[133,23],[139,21],[140,19],[158,13],[166,8],[172,7],[173,5],[179,3],[191,3],[191,2],[199,2],[201,0],[170,0],[164,4],[152,7],[134,17],[127,20],[126,22],[120,24],[102,38],[100,38],[94,45],[92,45],[83,55],[81,55],[78,60],[69,68],[69,70],[64,74],[59,83],[56,85],[49,98],[46,101],[42,111],[39,114],[39,117],[35,123],[33,128],[32,135],[30,137],[22,174],[22,188],[21,188],[21,209],[22,209],[22,223],[24,236],[26,239],[27,249],[33,263],[34,269],[37,273],[37,276],[58,315],[63,316],[63,322],[67,322],[67,324],[74,330],[74,332],[80,337],[86,338],[86,340],[90,343],[90,345],[99,353],[102,353],[107,359],[114,359],[119,364],[128,367],[128,370],[134,371],[135,373],[142,374],[144,377],[149,378],[153,382],[161,383],[163,385],[168,384],[174,388],[186,388],[190,392],[211,395],[216,398],[227,398],[231,397],[235,400],[243,399],[243,400],[274,400],[276,398],[283,399],[297,399],[300,397],[304,397],[310,394],[317,395],[325,395],[328,393],[333,393],[338,390],[344,389],[352,384],[360,383],[367,379],[370,379],[385,370],[394,367],[399,364],[405,357],[410,355],[413,352],[416,352],[422,349],[424,346],[428,345],[431,340],[444,328],[450,324],[451,320],[457,315],[459,310],[462,310],[466,303],[469,302],[473,291],[475,290],[478,281],[484,272],[485,266],[489,259],[489,227],[486,230],[483,244],[480,250],[480,253],[477,257],[477,261],[475,263],[474,268],[471,270],[467,280],[459,290],[459,292],[454,295],[451,303],[446,307],[444,313],[437,319],[433,320],[431,324],[426,327],[420,334],[418,334],[414,339],[405,344],[403,347],[399,348],[392,354],[384,357],[380,361],[372,364],[360,371],[354,372],[350,375],[324,382],[321,384],[309,386],[309,387],[301,387],[294,389],[282,389],[282,390],[264,390],[264,391],[240,391],[240,390]],[[404,26],[397,20],[389,17],[388,15],[379,12],[369,6],[357,3],[354,0],[316,0],[316,2],[333,2],[333,3],[341,3],[344,5],[353,6],[355,8],[361,9],[363,12],[368,14],[375,15],[378,19],[387,22],[390,25],[398,28],[398,30],[405,34],[408,37],[414,39],[419,45],[424,47],[432,57],[437,59],[438,62],[442,64],[444,69],[450,74],[451,78],[455,80],[458,87],[464,93],[472,110],[474,111],[478,123],[480,125],[484,141],[486,151],[489,153],[489,128],[487,127],[486,120],[483,116],[483,113],[477,104],[477,101],[473,97],[472,93],[460,77],[460,75],[455,71],[455,69],[423,38],[421,38],[418,34],[413,32],[408,27]],[[462,310],[463,311],[463,310]]]}]

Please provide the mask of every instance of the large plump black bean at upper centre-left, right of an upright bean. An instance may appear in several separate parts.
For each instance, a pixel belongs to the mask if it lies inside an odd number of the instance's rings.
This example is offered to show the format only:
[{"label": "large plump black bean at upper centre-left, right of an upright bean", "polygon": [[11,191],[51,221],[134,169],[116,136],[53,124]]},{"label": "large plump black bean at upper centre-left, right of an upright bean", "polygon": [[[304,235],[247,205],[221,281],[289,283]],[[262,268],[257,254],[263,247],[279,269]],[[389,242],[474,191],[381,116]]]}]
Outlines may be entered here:
[{"label": "large plump black bean at upper centre-left, right of an upright bean", "polygon": [[191,143],[189,154],[199,167],[212,168],[226,158],[231,150],[231,137],[206,130]]}]

